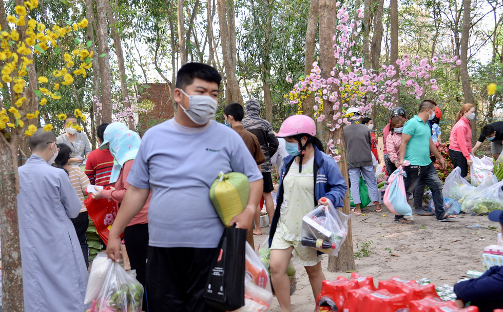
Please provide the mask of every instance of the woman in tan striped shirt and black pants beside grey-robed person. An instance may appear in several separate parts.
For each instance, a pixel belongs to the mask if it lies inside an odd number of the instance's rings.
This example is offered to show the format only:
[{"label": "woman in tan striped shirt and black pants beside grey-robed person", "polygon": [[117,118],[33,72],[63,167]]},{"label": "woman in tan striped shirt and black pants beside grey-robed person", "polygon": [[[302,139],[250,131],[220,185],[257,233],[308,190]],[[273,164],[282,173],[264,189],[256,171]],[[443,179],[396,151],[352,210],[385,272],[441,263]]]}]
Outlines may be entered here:
[{"label": "woman in tan striped shirt and black pants beside grey-robed person", "polygon": [[84,193],[86,192],[87,185],[89,184],[89,178],[79,166],[72,166],[68,164],[71,153],[70,147],[66,144],[58,144],[58,146],[60,148],[60,151],[57,154],[54,162],[56,163],[57,168],[61,168],[65,170],[66,173],[68,173],[70,182],[77,192],[77,195],[79,195],[79,199],[82,203],[79,216],[71,220],[81,244],[82,253],[84,254],[84,261],[86,262],[86,266],[89,267],[89,245],[87,244],[86,237],[87,227],[89,226],[89,218],[87,215],[86,206],[84,205]]}]

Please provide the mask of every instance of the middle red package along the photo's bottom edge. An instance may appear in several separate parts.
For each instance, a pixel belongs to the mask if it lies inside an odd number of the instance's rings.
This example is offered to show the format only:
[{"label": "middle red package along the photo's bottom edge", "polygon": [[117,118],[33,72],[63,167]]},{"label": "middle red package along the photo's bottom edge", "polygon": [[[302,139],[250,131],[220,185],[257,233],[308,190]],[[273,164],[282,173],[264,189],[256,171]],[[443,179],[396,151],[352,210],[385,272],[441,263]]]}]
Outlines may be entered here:
[{"label": "middle red package along the photo's bottom edge", "polygon": [[407,295],[392,294],[388,290],[382,289],[366,295],[363,298],[359,312],[395,312],[399,308],[406,308],[408,306]]}]

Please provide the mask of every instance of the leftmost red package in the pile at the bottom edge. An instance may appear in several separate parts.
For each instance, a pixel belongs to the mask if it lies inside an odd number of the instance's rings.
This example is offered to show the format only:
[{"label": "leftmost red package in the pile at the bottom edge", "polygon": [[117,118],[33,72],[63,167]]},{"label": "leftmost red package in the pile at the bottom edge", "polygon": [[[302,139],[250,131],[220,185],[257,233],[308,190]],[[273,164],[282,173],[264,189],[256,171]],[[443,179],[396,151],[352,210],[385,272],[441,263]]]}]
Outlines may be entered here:
[{"label": "leftmost red package in the pile at the bottom edge", "polygon": [[351,289],[360,288],[358,280],[339,276],[335,281],[323,281],[321,292],[316,300],[321,312],[342,311],[347,300],[347,293]]}]

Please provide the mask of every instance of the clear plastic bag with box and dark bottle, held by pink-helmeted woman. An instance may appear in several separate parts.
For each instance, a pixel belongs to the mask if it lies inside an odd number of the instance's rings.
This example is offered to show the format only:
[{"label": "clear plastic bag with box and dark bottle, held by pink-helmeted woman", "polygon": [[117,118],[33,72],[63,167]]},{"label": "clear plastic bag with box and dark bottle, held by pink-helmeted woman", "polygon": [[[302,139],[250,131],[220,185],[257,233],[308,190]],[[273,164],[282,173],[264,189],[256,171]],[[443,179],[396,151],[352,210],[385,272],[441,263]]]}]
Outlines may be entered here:
[{"label": "clear plastic bag with box and dark bottle, held by pink-helmeted woman", "polygon": [[331,202],[329,206],[318,205],[302,218],[302,246],[337,256],[347,237],[349,219],[349,215],[334,208]]}]

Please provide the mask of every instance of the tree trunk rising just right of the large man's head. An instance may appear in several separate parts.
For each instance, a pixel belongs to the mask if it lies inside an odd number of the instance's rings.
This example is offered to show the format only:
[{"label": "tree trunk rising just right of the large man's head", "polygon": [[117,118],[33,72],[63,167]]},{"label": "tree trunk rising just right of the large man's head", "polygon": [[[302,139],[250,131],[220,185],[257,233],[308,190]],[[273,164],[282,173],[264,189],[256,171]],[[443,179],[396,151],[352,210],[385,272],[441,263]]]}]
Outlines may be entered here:
[{"label": "tree trunk rising just right of the large man's head", "polygon": [[236,78],[236,27],[234,22],[234,2],[218,0],[218,23],[222,45],[223,65],[225,68],[225,102],[237,102],[244,105],[239,82]]}]

